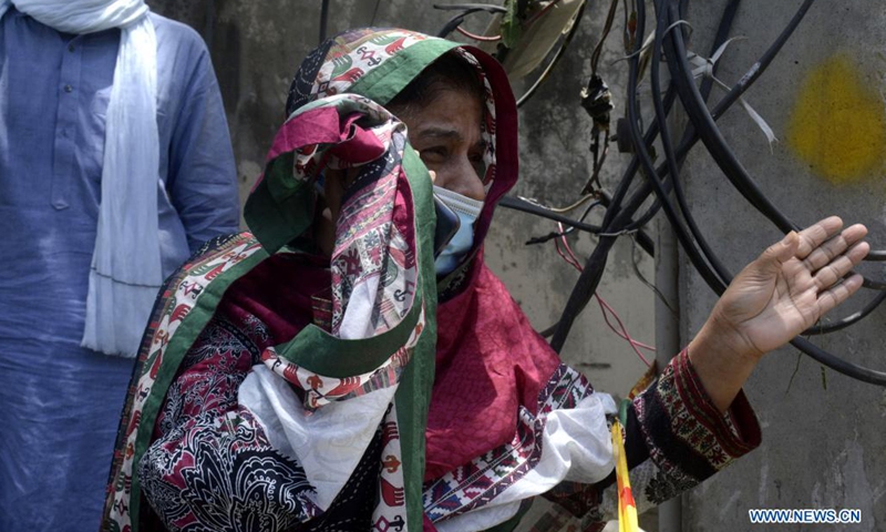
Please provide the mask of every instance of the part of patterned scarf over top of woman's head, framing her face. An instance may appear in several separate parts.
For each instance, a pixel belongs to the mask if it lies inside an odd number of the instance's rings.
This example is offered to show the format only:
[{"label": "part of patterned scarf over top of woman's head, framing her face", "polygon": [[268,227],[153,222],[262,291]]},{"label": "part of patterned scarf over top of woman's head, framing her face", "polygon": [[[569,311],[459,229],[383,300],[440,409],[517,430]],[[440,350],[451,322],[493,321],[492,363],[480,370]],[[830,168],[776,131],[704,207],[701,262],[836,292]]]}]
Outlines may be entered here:
[{"label": "part of patterned scarf over top of woman's head, framing her face", "polygon": [[347,92],[409,114],[441,86],[476,93],[483,103],[486,201],[474,234],[480,246],[495,205],[516,184],[518,172],[516,103],[507,74],[491,55],[410,30],[349,30],[305,58],[290,85],[286,113],[291,116],[310,102]]}]

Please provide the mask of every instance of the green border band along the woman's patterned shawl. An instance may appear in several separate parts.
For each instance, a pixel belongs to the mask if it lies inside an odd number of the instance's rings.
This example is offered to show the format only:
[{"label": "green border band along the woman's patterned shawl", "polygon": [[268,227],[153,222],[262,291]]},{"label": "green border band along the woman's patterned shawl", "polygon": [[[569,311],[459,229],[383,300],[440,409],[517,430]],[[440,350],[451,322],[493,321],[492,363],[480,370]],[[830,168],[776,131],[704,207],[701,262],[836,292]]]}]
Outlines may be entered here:
[{"label": "green border band along the woman's patterned shawl", "polygon": [[[418,42],[395,57],[382,63],[379,68],[370,71],[357,83],[349,93],[367,96],[382,105],[390,102],[401,90],[414,80],[422,70],[434,62],[440,55],[456,48],[459,44],[441,39],[429,39]],[[264,252],[257,253],[244,263],[237,265],[210,283],[198,300],[197,307],[185,318],[184,323],[173,335],[173,339],[167,346],[166,356],[168,359],[163,361],[163,367],[157,376],[157,380],[152,388],[151,397],[145,402],[143,417],[140,422],[138,439],[135,447],[134,464],[144,454],[153,433],[154,421],[158,409],[163,402],[173,377],[178,370],[182,358],[187,352],[190,345],[196,340],[199,332],[212,318],[216,306],[228,286],[267,258],[267,254],[275,253],[310,225],[313,219],[313,196],[309,190],[309,184],[299,182],[293,183],[293,190],[286,191],[286,198],[280,201],[280,191],[272,191],[275,182],[289,181],[280,180],[282,173],[291,172],[292,154],[284,154],[270,162],[266,168],[265,178],[256,186],[249,196],[246,205],[245,215],[250,229],[255,234],[261,235]],[[431,180],[427,168],[411,146],[406,146],[403,153],[403,168],[412,188],[413,202],[415,204],[415,232],[419,248],[419,267],[424,273],[420,278],[420,290],[416,290],[416,307],[424,306],[425,328],[415,346],[412,360],[404,369],[400,387],[398,388],[394,400],[398,409],[398,421],[400,424],[400,443],[403,453],[403,479],[406,493],[406,520],[409,530],[422,530],[423,508],[422,508],[422,480],[424,475],[424,432],[427,423],[427,410],[431,401],[431,389],[434,381],[434,357],[436,352],[436,276],[433,274],[433,234],[435,214],[432,201]],[[301,187],[301,188],[299,188]],[[297,190],[298,188],[298,190]],[[303,190],[302,190],[303,188]],[[277,193],[277,194],[275,194]],[[276,196],[276,197],[275,197]],[[267,252],[267,253],[265,253]],[[415,309],[413,309],[415,310]],[[414,327],[414,319],[418,315],[410,313],[400,326],[384,335],[370,340],[354,341],[353,346],[363,348],[363,342],[379,342],[379,349],[387,350],[385,346],[394,340],[405,342]],[[408,327],[406,327],[408,326]],[[309,352],[329,354],[331,348],[323,348],[320,344],[336,340],[337,348],[344,346],[343,340],[331,337],[323,338],[319,329],[308,327],[302,330],[305,339],[299,340],[299,334],[293,344],[306,342],[310,346]],[[390,335],[390,336],[389,336]],[[405,338],[401,336],[405,335]],[[350,349],[350,348],[346,348]],[[377,351],[377,356],[381,352]],[[388,354],[390,356],[390,354]],[[287,356],[290,358],[290,356]],[[301,356],[297,357],[301,359]],[[356,359],[352,367],[339,360],[321,360],[320,356],[306,357],[305,367],[319,374],[336,377],[337,375],[356,375],[351,369],[362,369],[377,360],[374,357],[363,357]],[[385,357],[387,358],[387,357]],[[308,360],[310,359],[310,360]],[[293,360],[295,361],[295,360]],[[382,359],[383,361],[383,359]],[[380,362],[379,362],[380,364]],[[148,366],[150,367],[150,366]],[[375,365],[374,367],[378,367]],[[364,372],[364,371],[359,371]],[[140,485],[137,474],[133,474],[132,498],[130,500],[133,532],[138,529],[138,507],[140,507]]]}]

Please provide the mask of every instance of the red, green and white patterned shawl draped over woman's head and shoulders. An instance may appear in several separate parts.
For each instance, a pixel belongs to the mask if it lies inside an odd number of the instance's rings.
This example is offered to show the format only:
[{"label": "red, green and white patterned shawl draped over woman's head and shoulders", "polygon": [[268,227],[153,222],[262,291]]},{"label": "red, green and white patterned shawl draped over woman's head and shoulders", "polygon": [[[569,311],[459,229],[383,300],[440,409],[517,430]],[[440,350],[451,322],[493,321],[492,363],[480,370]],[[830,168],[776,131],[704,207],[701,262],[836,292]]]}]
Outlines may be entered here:
[{"label": "red, green and white patterned shawl draped over woman's head and shoulders", "polygon": [[[403,124],[381,105],[451,50],[476,66],[486,88],[482,134],[488,146],[484,157],[487,201],[476,224],[476,258],[444,280],[460,285],[460,295],[443,308],[462,306],[468,311],[452,313],[441,324],[446,329],[441,336],[443,347],[435,349],[437,287],[429,241],[433,235],[430,180],[408,144]],[[307,392],[305,405],[309,409],[358,395],[357,389],[368,392],[384,388],[377,381],[382,374],[389,377],[394,400],[385,420],[399,426],[395,443],[404,467],[395,483],[405,488],[409,522],[422,521],[423,440],[435,358],[444,378],[433,391],[441,400],[434,401],[427,448],[433,457],[431,470],[443,471],[509,441],[523,397],[532,398],[528,402],[533,403],[538,388],[557,366],[552,352],[547,364],[536,368],[534,361],[525,371],[519,369],[519,385],[513,374],[492,375],[492,368],[482,367],[501,364],[508,356],[508,346],[514,347],[508,337],[525,342],[523,337],[528,336],[530,342],[544,346],[540,338],[526,334],[530,329],[522,321],[516,304],[482,264],[480,243],[495,204],[517,176],[516,108],[506,75],[495,60],[476,49],[409,31],[351,31],[328,40],[305,60],[292,83],[288,110],[293,114],[278,132],[262,178],[246,205],[254,236],[241,235],[209,246],[185,264],[161,293],[122,420],[111,472],[113,493],[105,511],[104,526],[109,530],[137,526],[140,479],[133,474],[135,464],[152,441],[159,407],[182,359],[226,290],[275,254],[301,250],[290,244],[310,234],[313,181],[322,167],[360,168],[342,205],[330,263],[330,331],[308,325],[290,341],[267,348],[261,359],[275,374]],[[492,297],[476,296],[484,285],[492,288]],[[488,323],[493,309],[498,318],[509,319],[507,328]],[[477,313],[484,316],[475,316]],[[460,321],[468,316],[472,326],[465,329]],[[362,324],[362,330],[352,324]],[[515,331],[513,326],[524,330]],[[483,329],[487,330],[480,335]],[[491,339],[491,331],[496,336],[495,330],[502,336],[492,339],[498,349],[488,350],[485,340]],[[477,366],[472,359],[481,350],[488,356]],[[357,351],[363,356],[342,361],[347,352]],[[463,364],[470,367],[449,371]],[[477,377],[477,381],[459,382],[446,377],[456,374]],[[318,383],[318,375],[324,377],[322,383]],[[336,375],[348,377],[336,379]],[[523,385],[528,389],[518,390]],[[466,393],[465,386],[471,388]],[[452,400],[442,400],[445,397]],[[473,422],[460,430],[454,421],[464,416]],[[474,432],[476,423],[483,423],[483,437]],[[471,438],[461,438],[467,434]]]}]

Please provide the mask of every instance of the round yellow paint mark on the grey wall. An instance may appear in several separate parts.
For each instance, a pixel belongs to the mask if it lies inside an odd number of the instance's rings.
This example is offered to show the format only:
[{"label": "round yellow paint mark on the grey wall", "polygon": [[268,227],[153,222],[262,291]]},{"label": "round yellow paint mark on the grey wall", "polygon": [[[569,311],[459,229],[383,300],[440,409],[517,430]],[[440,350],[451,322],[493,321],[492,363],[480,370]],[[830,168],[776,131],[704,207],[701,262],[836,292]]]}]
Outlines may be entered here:
[{"label": "round yellow paint mark on the grey wall", "polygon": [[820,64],[803,81],[787,142],[813,172],[846,184],[884,163],[886,112],[877,83],[865,82],[846,54]]}]

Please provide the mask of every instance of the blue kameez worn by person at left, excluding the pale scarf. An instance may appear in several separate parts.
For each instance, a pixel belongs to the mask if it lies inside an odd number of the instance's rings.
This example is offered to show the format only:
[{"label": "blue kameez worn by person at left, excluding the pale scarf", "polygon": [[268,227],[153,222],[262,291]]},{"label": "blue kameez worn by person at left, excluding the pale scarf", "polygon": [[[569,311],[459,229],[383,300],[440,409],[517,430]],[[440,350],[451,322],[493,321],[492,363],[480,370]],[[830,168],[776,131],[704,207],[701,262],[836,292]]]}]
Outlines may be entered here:
[{"label": "blue kameez worn by person at left, excluding the pale scarf", "polygon": [[[200,38],[157,34],[164,275],[237,231],[234,156]],[[0,19],[0,531],[94,531],[133,360],[80,347],[120,31]]]}]

